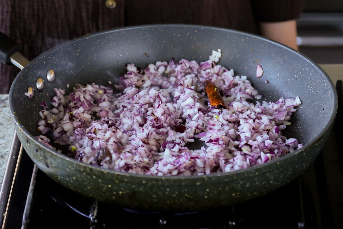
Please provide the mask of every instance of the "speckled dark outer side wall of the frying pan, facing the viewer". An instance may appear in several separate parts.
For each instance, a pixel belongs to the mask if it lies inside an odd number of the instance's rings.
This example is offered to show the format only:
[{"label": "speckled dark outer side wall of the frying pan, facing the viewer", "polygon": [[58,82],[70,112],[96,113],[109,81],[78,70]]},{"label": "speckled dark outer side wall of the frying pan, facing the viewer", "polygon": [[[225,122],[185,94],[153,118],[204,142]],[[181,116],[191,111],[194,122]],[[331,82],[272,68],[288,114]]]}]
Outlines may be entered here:
[{"label": "speckled dark outer side wall of the frying pan, facing the viewer", "polygon": [[[130,209],[194,211],[224,207],[268,194],[294,180],[318,156],[328,137],[274,164],[238,173],[161,178],[111,173],[63,160],[28,140],[30,158],[50,178],[79,194]],[[19,139],[27,136],[19,132]],[[22,141],[22,142],[25,142]],[[34,153],[33,153],[34,152]]]}]

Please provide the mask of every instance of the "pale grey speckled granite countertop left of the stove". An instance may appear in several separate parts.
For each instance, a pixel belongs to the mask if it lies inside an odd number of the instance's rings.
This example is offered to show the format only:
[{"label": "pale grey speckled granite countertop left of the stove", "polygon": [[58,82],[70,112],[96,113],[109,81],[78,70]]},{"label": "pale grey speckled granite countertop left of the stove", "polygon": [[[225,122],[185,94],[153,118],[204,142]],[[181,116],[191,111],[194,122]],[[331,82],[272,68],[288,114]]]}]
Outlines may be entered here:
[{"label": "pale grey speckled granite countertop left of the stove", "polygon": [[14,123],[11,118],[8,95],[0,94],[0,187],[14,136]]}]

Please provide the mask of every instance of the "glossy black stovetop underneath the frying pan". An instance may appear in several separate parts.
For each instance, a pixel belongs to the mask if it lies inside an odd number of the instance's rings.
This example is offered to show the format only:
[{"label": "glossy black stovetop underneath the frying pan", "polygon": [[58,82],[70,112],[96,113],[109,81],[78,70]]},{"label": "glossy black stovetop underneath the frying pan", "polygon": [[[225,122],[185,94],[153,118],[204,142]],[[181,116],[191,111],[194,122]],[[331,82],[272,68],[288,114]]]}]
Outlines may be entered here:
[{"label": "glossy black stovetop underneath the frying pan", "polygon": [[[342,81],[336,87],[342,96]],[[340,101],[337,117],[342,108]],[[2,228],[343,228],[341,129],[336,118],[315,162],[284,187],[243,204],[190,213],[137,211],[82,197],[40,171],[16,139],[11,153],[19,156],[8,165],[16,168],[5,174],[11,188],[1,198]]]}]

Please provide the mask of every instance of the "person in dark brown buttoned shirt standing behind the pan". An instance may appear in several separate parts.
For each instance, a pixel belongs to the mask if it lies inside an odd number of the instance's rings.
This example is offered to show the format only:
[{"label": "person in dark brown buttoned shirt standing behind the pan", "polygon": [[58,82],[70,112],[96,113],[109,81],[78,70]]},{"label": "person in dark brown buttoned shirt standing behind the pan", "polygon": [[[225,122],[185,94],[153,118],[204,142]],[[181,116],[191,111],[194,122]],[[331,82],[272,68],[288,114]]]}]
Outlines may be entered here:
[{"label": "person in dark brown buttoned shirt standing behind the pan", "polygon": [[[263,35],[294,49],[305,0],[0,0],[0,31],[32,60],[70,39],[122,26],[184,23]],[[19,69],[0,63],[0,94]]]}]

